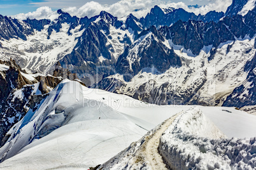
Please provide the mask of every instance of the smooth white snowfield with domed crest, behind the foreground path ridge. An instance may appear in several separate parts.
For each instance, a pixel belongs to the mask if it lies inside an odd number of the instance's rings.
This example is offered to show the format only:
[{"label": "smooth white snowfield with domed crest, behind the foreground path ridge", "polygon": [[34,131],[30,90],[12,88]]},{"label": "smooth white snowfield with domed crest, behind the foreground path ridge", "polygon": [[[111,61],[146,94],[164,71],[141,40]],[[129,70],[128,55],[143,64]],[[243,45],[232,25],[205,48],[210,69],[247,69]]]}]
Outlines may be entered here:
[{"label": "smooth white snowfield with domed crest, behind the foreground path ridge", "polygon": [[[62,81],[10,131],[1,169],[72,169],[103,164],[174,114],[192,106],[157,106]],[[256,136],[255,115],[199,107],[227,137]],[[51,133],[52,132],[52,133]],[[203,134],[202,134],[203,135]],[[8,159],[9,158],[9,159]]]}]

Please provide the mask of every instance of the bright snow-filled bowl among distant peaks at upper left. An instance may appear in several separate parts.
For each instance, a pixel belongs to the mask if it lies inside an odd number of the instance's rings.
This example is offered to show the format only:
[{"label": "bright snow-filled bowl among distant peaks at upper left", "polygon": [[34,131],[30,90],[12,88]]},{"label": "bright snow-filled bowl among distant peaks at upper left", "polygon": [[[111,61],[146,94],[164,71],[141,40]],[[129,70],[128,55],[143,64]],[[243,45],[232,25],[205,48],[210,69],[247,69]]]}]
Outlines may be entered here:
[{"label": "bright snow-filled bowl among distant peaks at upper left", "polygon": [[49,72],[57,61],[71,53],[77,42],[76,37],[82,36],[84,29],[79,31],[81,27],[79,25],[71,30],[72,36],[68,36],[70,25],[62,23],[60,32],[53,30],[50,39],[47,39],[48,27],[49,25],[46,25],[40,32],[34,30],[34,35],[27,36],[27,41],[22,39],[0,41],[4,47],[0,49],[1,60],[11,57],[28,72],[38,71],[45,74]]}]

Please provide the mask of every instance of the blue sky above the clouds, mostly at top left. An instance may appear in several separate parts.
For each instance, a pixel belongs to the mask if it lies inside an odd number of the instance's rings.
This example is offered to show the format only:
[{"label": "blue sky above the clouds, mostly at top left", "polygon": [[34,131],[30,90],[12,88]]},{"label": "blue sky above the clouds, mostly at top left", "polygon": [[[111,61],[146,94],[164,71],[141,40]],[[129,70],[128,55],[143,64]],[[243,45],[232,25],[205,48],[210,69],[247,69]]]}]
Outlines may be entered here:
[{"label": "blue sky above the clouds, mostly at top left", "polygon": [[[117,3],[119,0],[94,0],[100,4],[113,4]],[[132,0],[130,0],[132,1]],[[165,1],[167,0],[158,0]],[[187,5],[190,4],[199,4],[205,5],[210,1],[202,0],[173,0],[172,3],[183,2]],[[212,0],[211,0],[212,1]],[[79,8],[85,3],[88,3],[89,0],[0,0],[0,14],[1,15],[17,15],[18,13],[28,13],[30,11],[36,11],[37,8],[41,6],[49,6],[52,10],[58,10],[60,8],[69,8],[74,6]]]}]

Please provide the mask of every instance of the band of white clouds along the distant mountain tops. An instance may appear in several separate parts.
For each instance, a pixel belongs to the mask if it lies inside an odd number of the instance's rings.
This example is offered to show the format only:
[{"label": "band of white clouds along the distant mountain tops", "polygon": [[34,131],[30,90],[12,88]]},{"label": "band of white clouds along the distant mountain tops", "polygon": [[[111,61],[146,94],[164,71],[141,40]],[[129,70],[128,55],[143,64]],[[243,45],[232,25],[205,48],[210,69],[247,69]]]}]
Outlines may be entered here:
[{"label": "band of white clouds along the distant mountain tops", "polygon": [[[69,1],[70,2],[70,1]],[[60,3],[59,1],[55,1],[55,3]],[[68,0],[63,1],[62,3],[68,3]],[[146,14],[150,11],[153,6],[158,5],[161,8],[183,8],[186,11],[194,12],[196,15],[201,13],[202,15],[208,13],[208,11],[216,10],[216,11],[224,11],[227,10],[227,7],[232,3],[232,0],[211,0],[205,6],[201,6],[201,8],[188,8],[188,6],[183,3],[171,3],[161,0],[121,0],[117,3],[111,5],[103,5],[94,1],[90,1],[89,3],[84,4],[82,7],[77,8],[69,7],[69,8],[62,8],[63,11],[68,12],[70,15],[76,15],[78,17],[98,15],[101,11],[107,11],[111,13],[113,16],[118,16],[118,18],[125,17],[132,13],[137,17],[146,16]],[[52,2],[48,0],[45,5],[52,5]],[[48,16],[53,15],[56,16],[56,12],[52,11],[49,7],[41,7],[34,12],[30,12],[27,14],[19,14],[15,17],[17,18],[48,18]],[[52,16],[52,18],[54,18]]]}]

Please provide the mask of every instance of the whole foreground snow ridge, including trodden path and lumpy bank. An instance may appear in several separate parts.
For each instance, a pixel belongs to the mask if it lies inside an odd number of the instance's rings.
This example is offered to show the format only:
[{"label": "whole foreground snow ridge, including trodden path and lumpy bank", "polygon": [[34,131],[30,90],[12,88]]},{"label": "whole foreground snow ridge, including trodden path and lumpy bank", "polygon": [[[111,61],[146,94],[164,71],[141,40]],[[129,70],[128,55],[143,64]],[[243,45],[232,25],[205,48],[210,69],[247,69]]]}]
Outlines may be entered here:
[{"label": "whole foreground snow ridge, including trodden path and lumpy bank", "polygon": [[253,169],[256,138],[227,138],[218,128],[200,107],[191,107],[153,128],[99,169],[167,170],[166,164],[170,169]]}]

